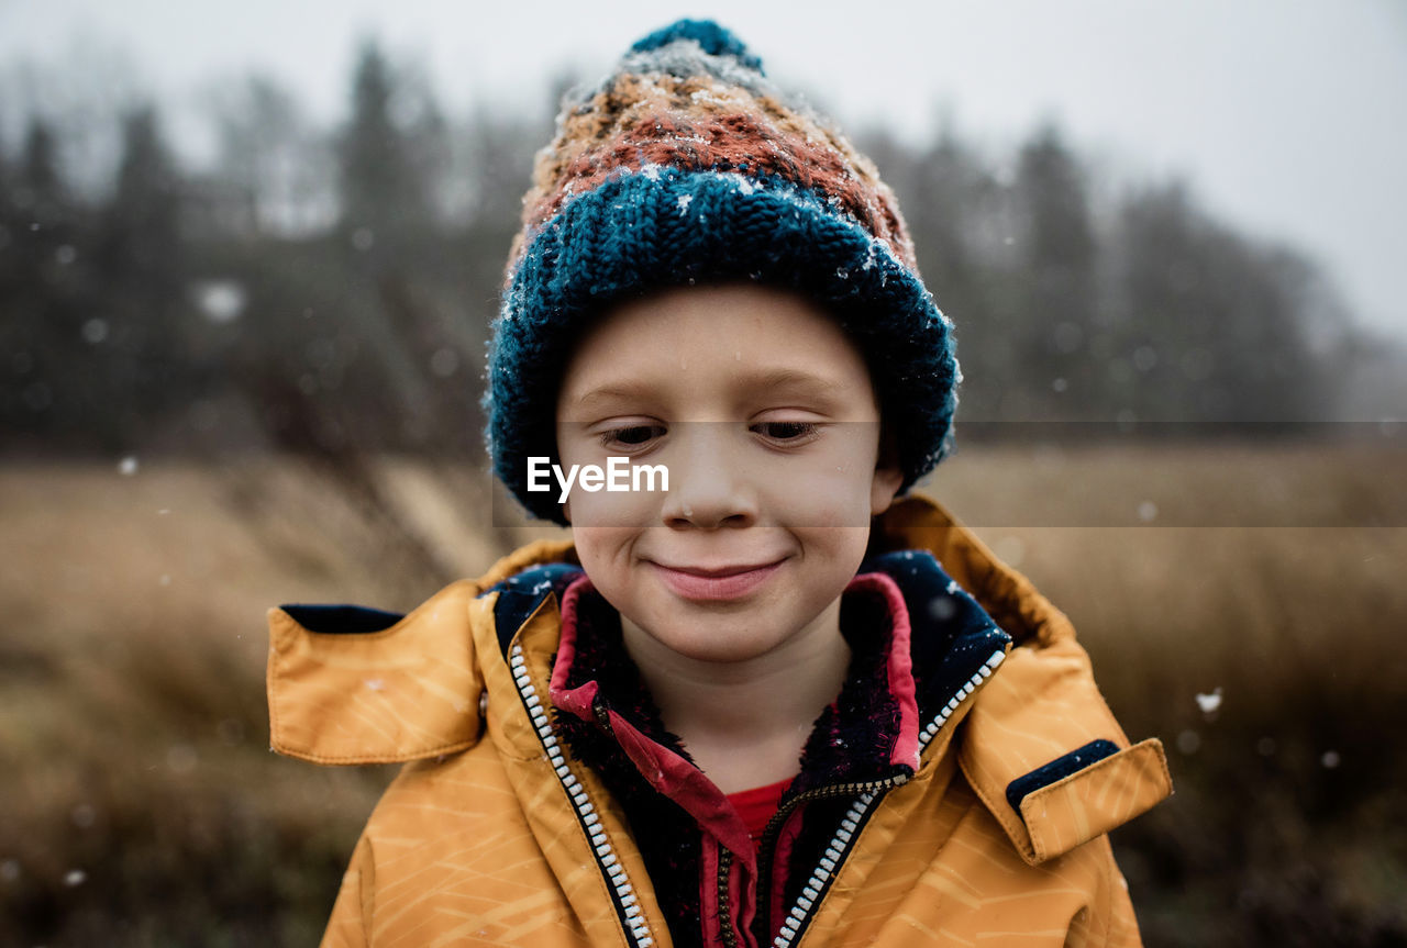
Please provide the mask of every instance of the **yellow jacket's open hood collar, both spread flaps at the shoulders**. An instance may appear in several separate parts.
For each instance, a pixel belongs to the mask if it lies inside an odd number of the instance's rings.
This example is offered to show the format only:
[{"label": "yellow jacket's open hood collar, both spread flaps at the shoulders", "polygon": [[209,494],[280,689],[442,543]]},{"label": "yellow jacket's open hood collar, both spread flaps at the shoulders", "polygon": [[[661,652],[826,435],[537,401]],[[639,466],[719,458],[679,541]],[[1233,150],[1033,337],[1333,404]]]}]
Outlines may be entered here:
[{"label": "yellow jacket's open hood collar, both spread flaps at the shoulders", "polygon": [[[1162,744],[1130,745],[1069,620],[936,502],[910,495],[877,519],[871,553],[926,550],[1014,646],[962,705],[958,764],[1030,864],[1144,813],[1172,792]],[[927,557],[923,557],[927,560]],[[408,615],[294,605],[269,612],[273,750],[319,764],[454,754],[483,731],[487,662],[471,630],[504,650],[529,616],[557,610],[578,575],[570,540],[537,542]],[[900,578],[910,613],[931,610]],[[484,641],[484,639],[480,639]]]}]

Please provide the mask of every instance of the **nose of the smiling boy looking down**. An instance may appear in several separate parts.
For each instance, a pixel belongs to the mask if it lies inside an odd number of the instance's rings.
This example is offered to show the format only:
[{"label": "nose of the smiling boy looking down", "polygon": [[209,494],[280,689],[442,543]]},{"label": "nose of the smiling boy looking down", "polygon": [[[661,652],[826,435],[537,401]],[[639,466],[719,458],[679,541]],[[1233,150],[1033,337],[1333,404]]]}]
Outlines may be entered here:
[{"label": "nose of the smiling boy looking down", "polygon": [[695,422],[670,459],[670,492],[660,509],[664,526],[713,529],[757,522],[753,491],[726,422]]}]

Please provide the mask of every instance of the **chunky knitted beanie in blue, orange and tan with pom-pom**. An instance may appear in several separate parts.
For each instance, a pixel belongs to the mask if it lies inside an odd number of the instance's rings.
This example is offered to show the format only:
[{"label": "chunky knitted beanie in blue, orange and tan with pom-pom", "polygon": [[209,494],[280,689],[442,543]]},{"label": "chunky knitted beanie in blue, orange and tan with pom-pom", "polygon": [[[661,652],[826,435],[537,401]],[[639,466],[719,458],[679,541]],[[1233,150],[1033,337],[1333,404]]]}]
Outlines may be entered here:
[{"label": "chunky knitted beanie in blue, orange and tan with pom-pom", "polygon": [[557,459],[575,340],[612,302],[751,280],[829,311],[865,356],[908,489],[947,454],[960,380],[951,322],[915,263],[892,191],[826,120],[785,98],[711,21],[640,39],[568,94],[537,153],[488,353],[488,450],[533,515],[528,459]]}]

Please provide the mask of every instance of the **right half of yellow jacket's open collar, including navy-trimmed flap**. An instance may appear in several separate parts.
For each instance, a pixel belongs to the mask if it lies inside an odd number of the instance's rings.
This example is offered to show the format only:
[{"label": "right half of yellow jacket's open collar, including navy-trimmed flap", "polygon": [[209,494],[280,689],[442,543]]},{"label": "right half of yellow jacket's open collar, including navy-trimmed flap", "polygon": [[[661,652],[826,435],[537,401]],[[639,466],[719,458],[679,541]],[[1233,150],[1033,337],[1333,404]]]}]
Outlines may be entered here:
[{"label": "right half of yellow jacket's open collar, including navy-trimmed flap", "polygon": [[908,497],[871,542],[933,553],[1017,644],[975,696],[958,762],[1027,862],[1068,852],[1172,792],[1161,741],[1130,745],[1069,619],[971,530]]}]

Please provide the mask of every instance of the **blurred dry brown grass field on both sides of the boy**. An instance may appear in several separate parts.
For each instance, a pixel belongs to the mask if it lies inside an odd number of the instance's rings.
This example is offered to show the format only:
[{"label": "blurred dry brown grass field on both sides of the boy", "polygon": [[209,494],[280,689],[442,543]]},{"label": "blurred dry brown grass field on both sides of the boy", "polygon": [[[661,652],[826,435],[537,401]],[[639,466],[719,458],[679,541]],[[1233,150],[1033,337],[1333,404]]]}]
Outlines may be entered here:
[{"label": "blurred dry brown grass field on both sides of the boy", "polygon": [[[1114,840],[1150,945],[1407,944],[1403,484],[1400,444],[1224,443],[974,447],[927,485],[1168,744],[1176,796]],[[4,464],[0,944],[314,944],[390,772],[267,751],[265,609],[483,571],[540,533],[490,491],[395,459]]]}]

